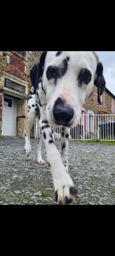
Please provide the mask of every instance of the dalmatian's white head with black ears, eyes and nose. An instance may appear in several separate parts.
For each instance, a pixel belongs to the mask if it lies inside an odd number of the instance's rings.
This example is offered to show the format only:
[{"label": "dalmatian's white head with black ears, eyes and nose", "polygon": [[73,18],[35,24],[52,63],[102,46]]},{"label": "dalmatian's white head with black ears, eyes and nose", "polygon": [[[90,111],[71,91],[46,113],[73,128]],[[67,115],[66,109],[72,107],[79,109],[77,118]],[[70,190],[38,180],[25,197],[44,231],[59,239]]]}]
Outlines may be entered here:
[{"label": "dalmatian's white head with black ears, eyes and nose", "polygon": [[103,67],[93,51],[43,52],[31,72],[32,84],[42,80],[46,92],[46,115],[49,123],[74,127],[81,117],[84,101],[98,90],[98,102],[106,88]]}]

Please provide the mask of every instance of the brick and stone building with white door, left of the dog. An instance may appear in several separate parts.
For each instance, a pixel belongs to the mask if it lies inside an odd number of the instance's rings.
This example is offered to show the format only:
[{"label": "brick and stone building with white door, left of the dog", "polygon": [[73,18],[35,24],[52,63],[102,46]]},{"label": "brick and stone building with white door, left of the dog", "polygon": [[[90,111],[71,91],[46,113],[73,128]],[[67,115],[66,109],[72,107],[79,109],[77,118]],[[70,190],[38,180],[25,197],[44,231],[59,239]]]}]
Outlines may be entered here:
[{"label": "brick and stone building with white door, left of the dog", "polygon": [[30,70],[41,53],[0,51],[0,56],[6,59],[0,73],[0,136],[25,136],[26,96],[32,86]]}]

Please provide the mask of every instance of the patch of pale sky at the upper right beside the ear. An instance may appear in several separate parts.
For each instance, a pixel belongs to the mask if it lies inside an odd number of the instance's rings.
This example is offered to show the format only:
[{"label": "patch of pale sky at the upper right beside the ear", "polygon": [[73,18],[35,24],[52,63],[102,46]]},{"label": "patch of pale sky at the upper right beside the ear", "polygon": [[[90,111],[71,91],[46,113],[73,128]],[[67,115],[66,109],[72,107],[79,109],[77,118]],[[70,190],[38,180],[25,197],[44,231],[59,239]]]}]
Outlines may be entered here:
[{"label": "patch of pale sky at the upper right beside the ear", "polygon": [[104,67],[106,88],[115,96],[115,51],[96,51]]}]

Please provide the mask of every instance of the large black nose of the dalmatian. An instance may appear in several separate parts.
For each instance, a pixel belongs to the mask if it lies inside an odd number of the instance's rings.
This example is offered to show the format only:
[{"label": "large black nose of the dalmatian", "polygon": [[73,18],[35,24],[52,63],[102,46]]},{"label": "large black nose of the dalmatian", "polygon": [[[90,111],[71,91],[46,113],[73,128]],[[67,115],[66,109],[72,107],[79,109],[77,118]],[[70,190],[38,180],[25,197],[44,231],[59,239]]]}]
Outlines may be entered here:
[{"label": "large black nose of the dalmatian", "polygon": [[67,125],[73,118],[74,110],[61,98],[55,102],[53,115],[57,125]]}]

